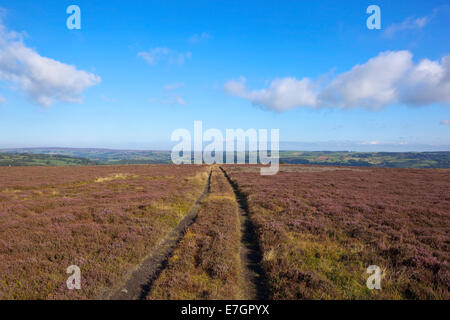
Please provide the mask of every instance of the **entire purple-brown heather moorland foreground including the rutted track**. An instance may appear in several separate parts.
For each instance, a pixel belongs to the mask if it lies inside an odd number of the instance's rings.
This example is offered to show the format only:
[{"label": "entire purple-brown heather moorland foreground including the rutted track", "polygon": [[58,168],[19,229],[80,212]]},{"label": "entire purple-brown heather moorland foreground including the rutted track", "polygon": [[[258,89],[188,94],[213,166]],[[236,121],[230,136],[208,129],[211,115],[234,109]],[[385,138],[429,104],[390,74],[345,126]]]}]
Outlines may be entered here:
[{"label": "entire purple-brown heather moorland foreground including the rutted track", "polygon": [[0,299],[120,297],[133,277],[142,299],[449,299],[449,190],[448,169],[2,167]]}]

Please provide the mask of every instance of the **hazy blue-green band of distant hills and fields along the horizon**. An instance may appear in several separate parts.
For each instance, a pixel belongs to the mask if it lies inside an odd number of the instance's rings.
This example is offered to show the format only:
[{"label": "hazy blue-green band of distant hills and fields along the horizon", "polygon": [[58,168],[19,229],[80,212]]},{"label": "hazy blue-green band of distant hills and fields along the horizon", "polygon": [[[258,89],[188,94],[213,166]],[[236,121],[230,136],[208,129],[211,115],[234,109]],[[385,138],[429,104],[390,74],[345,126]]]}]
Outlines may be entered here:
[{"label": "hazy blue-green band of distant hills and fields along the horizon", "polygon": [[[113,150],[92,148],[18,148],[0,149],[24,157],[25,154],[51,156],[30,163],[47,165],[85,164],[169,164],[170,151]],[[66,158],[58,158],[65,156]],[[20,159],[19,157],[19,159]],[[247,154],[248,157],[248,154]],[[28,160],[31,158],[27,158]],[[60,160],[58,160],[60,159]],[[70,160],[72,159],[72,160]],[[52,161],[53,160],[53,161]],[[450,168],[450,151],[439,152],[347,152],[347,151],[280,151],[280,162],[286,164],[337,165],[386,168]],[[15,165],[20,165],[20,160]],[[27,162],[25,162],[27,163]],[[5,165],[1,164],[0,165]],[[25,164],[29,165],[29,164]],[[36,164],[37,165],[37,164]],[[46,165],[46,164],[40,164]]]}]

